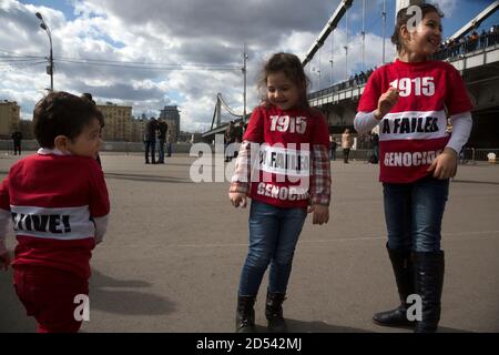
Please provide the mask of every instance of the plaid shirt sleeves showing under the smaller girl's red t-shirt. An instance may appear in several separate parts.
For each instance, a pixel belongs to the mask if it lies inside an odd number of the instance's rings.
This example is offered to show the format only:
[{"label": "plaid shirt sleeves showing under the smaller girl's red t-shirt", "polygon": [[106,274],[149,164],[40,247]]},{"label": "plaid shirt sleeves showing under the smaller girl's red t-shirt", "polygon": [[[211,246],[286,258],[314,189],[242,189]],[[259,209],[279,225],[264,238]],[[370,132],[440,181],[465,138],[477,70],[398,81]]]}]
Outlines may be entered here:
[{"label": "plaid shirt sleeves showing under the smaller girl's red t-shirt", "polygon": [[[257,143],[253,143],[257,144]],[[256,150],[257,152],[257,150]],[[255,153],[255,151],[254,151]],[[258,171],[257,154],[252,155],[252,142],[241,144],[235,163],[234,175],[231,180],[230,192],[247,194],[252,181],[252,166],[254,173]],[[330,162],[329,151],[325,145],[314,144],[310,152],[310,199],[309,204],[329,205],[330,202]]]}]

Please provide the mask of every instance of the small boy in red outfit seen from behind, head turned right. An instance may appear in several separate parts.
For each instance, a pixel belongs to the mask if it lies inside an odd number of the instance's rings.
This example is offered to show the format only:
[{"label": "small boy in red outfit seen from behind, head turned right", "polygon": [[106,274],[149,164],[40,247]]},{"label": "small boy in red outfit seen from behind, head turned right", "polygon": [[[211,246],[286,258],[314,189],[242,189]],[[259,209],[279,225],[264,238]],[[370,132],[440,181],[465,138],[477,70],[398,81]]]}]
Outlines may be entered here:
[{"label": "small boy in red outfit seen from behind, head turned right", "polygon": [[78,332],[75,298],[89,294],[91,253],[110,211],[95,161],[103,116],[89,100],[51,92],[35,105],[33,124],[40,150],[0,184],[0,268],[11,262],[4,237],[12,220],[14,287],[37,332]]}]

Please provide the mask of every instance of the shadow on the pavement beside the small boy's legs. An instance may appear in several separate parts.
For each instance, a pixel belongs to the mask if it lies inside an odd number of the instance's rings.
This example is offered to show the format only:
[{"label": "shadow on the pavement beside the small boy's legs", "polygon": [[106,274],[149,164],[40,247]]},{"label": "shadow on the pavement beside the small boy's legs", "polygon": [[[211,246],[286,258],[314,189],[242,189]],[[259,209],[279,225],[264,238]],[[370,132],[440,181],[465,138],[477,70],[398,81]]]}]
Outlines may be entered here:
[{"label": "shadow on the pavement beside the small boy's legs", "polygon": [[162,296],[128,290],[145,287],[151,287],[151,284],[139,280],[116,280],[92,270],[90,306],[109,313],[131,315],[159,315],[174,311],[174,303]]}]

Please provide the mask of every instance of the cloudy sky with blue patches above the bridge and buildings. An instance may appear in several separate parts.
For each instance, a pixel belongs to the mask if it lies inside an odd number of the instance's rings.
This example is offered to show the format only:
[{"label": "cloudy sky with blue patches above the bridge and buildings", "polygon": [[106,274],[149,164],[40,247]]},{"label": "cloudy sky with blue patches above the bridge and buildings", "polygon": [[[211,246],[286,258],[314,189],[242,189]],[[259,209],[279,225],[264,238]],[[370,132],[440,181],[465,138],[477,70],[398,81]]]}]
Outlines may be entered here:
[{"label": "cloudy sky with blue patches above the bridge and buildings", "polygon": [[[438,0],[452,34],[492,0]],[[221,92],[243,111],[243,47],[246,44],[247,106],[257,103],[255,79],[273,52],[302,59],[336,10],[339,0],[0,0],[0,100],[17,101],[22,119],[50,87],[45,73],[49,39],[34,13],[52,33],[54,89],[91,92],[98,102],[130,104],[133,114],[159,115],[179,105],[181,129],[210,128]],[[366,1],[365,61],[359,37],[361,0],[348,12],[307,65],[312,91],[344,80],[348,73],[381,62],[383,0]],[[386,0],[387,38],[393,32],[395,0]],[[483,28],[499,23],[493,14]],[[348,39],[348,65],[344,47]],[[395,51],[388,42],[386,58]],[[333,53],[333,73],[329,60]],[[320,60],[319,60],[320,57]],[[320,80],[319,80],[320,79]],[[228,115],[227,115],[228,116]]]}]

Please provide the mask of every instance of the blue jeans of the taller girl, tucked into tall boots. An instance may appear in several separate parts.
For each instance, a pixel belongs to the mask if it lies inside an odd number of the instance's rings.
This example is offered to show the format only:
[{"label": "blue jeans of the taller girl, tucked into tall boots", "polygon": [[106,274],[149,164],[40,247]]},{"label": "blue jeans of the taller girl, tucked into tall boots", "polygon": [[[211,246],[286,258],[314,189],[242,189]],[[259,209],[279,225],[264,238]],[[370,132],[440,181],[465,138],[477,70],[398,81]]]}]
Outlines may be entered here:
[{"label": "blue jeans of the taller girl, tucked into tall boots", "polygon": [[384,183],[385,219],[390,250],[440,251],[441,220],[449,180],[432,176],[408,184]]}]

